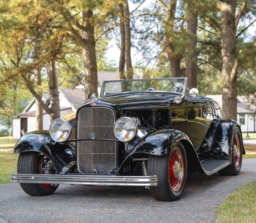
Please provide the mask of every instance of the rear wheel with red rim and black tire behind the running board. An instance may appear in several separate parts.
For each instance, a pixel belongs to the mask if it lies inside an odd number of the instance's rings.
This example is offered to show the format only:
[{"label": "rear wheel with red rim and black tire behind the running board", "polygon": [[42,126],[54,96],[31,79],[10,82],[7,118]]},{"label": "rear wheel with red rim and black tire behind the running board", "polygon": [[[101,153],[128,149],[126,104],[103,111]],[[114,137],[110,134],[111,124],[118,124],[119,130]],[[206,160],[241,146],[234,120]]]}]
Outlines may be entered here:
[{"label": "rear wheel with red rim and black tire behind the running board", "polygon": [[242,137],[238,127],[235,129],[235,135],[232,142],[232,151],[231,151],[231,164],[218,173],[222,176],[235,176],[237,175],[242,166],[243,158],[243,147],[242,147]]}]

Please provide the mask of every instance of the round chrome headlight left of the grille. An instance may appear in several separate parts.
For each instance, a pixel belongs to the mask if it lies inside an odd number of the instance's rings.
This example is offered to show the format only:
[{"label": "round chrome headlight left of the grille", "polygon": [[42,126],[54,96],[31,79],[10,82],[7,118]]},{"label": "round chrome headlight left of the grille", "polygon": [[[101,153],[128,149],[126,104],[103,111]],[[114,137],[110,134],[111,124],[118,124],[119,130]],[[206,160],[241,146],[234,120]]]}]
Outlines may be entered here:
[{"label": "round chrome headlight left of the grille", "polygon": [[55,119],[50,126],[49,132],[54,141],[64,142],[70,138],[72,127],[65,119]]}]

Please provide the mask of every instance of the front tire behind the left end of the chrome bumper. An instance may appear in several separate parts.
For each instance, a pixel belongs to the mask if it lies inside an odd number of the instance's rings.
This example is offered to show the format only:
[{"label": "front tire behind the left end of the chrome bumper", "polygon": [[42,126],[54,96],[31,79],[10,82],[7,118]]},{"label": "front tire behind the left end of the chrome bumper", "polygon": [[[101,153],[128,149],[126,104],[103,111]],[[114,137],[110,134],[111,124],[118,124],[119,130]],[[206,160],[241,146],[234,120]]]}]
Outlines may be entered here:
[{"label": "front tire behind the left end of the chrome bumper", "polygon": [[[38,152],[22,152],[19,154],[17,172],[25,174],[43,174],[43,171],[40,168],[42,165],[39,165],[40,162],[43,162],[43,159],[51,162],[46,156],[41,155]],[[58,184],[20,183],[20,186],[22,190],[29,195],[45,196],[54,193]]]}]

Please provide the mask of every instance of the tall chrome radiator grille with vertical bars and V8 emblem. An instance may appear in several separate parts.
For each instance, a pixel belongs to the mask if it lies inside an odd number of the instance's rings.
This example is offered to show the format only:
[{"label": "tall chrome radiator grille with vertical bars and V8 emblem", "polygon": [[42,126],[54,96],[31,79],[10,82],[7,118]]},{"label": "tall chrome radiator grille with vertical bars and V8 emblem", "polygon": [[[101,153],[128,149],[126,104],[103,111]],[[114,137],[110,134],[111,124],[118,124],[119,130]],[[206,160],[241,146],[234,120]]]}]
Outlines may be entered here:
[{"label": "tall chrome radiator grille with vertical bars and V8 emblem", "polygon": [[[77,118],[77,139],[116,139],[115,115],[109,108],[84,108]],[[110,174],[117,165],[117,142],[88,140],[77,142],[77,168],[85,174]]]}]

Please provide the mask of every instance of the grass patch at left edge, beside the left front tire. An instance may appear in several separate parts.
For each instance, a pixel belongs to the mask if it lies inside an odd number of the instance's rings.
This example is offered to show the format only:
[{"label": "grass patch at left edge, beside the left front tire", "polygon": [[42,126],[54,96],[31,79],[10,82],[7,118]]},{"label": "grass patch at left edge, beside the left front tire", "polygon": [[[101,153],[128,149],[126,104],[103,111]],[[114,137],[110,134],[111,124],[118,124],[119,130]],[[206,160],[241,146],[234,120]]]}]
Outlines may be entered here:
[{"label": "grass patch at left edge, beside the left front tire", "polygon": [[19,154],[0,152],[0,184],[10,183],[10,172],[17,172]]}]

